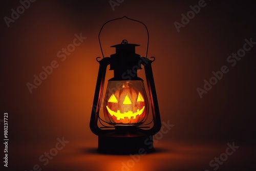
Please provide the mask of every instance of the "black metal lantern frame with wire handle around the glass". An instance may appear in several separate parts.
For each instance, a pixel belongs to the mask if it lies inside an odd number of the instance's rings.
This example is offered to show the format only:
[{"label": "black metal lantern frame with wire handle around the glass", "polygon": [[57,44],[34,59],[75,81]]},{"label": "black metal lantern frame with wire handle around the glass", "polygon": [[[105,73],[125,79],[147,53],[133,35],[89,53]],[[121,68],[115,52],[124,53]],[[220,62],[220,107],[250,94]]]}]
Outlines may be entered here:
[{"label": "black metal lantern frame with wire handle around the glass", "polygon": [[[135,22],[142,22],[128,18],[123,16],[121,18],[115,18],[113,20],[127,18],[133,20]],[[105,24],[109,23],[106,22]],[[104,25],[105,25],[104,24]],[[124,58],[122,55],[119,55],[117,52],[116,54],[112,54],[110,57],[104,57],[103,51],[101,48],[100,42],[100,33],[104,27],[101,27],[98,38],[100,49],[103,58],[98,60],[100,57],[97,57],[96,60],[99,62],[99,71],[98,77],[96,82],[96,89],[94,94],[93,100],[93,108],[91,113],[91,120],[90,120],[90,129],[91,131],[98,136],[98,152],[101,153],[109,153],[109,154],[133,154],[138,153],[140,149],[144,149],[146,153],[150,153],[154,151],[153,147],[153,135],[155,135],[161,129],[161,119],[159,113],[159,106],[157,101],[157,93],[155,88],[155,82],[153,77],[152,71],[152,62],[155,60],[155,57],[151,57],[153,60],[147,58],[147,51],[148,51],[148,40],[149,34],[147,27],[144,25],[147,31],[147,50],[145,57],[140,57],[140,55],[135,54],[135,47],[139,45],[135,44],[128,44],[127,40],[123,40],[121,44],[112,46],[115,47],[117,51],[121,51],[123,53],[132,54],[132,57],[125,58],[125,62],[120,61],[120,58]],[[134,51],[134,54],[133,52]],[[128,64],[127,64],[128,63]],[[103,88],[104,88],[104,81],[106,75],[106,68],[110,65],[110,70],[114,70],[114,79],[115,80],[127,80],[121,77],[122,72],[126,69],[132,69],[134,66],[140,65],[144,66],[145,70],[145,77],[147,82],[148,94],[150,96],[150,102],[152,106],[152,118],[153,118],[153,126],[150,129],[143,129],[143,126],[127,126],[127,125],[117,125],[113,126],[111,129],[110,127],[100,127],[98,125],[98,121],[100,121],[99,111],[100,105],[103,95]],[[138,66],[141,69],[141,66]],[[138,68],[137,67],[137,68]],[[136,76],[132,77],[132,80],[137,80],[137,70]],[[130,81],[131,79],[127,80]],[[150,144],[150,145],[149,145]]]}]

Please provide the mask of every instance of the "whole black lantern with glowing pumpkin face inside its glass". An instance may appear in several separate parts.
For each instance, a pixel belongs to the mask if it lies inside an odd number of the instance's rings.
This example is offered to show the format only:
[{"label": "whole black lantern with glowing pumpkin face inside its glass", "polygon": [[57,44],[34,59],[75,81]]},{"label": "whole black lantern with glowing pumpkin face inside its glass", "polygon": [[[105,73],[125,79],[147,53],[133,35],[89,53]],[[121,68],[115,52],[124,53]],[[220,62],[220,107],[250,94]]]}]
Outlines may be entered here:
[{"label": "whole black lantern with glowing pumpkin face inside its glass", "polygon": [[[124,16],[122,18],[127,17]],[[135,19],[131,20],[139,22]],[[110,57],[104,57],[100,44],[103,58],[101,60],[98,60],[99,57],[96,58],[99,62],[99,72],[90,120],[91,131],[98,136],[98,152],[100,153],[135,154],[140,153],[140,151],[144,151],[145,153],[154,151],[153,135],[161,128],[151,67],[155,58],[152,57],[153,60],[148,59],[146,57],[147,51],[145,57],[136,54],[135,47],[137,46],[139,45],[129,44],[127,40],[122,40],[121,44],[112,46],[116,48],[115,54],[110,55]],[[100,107],[106,68],[109,65],[110,70],[114,71],[114,77],[108,80],[108,86],[105,90],[102,107],[104,118],[102,118],[100,117]],[[142,65],[145,70],[150,101],[145,91],[143,79],[137,76],[137,70],[141,70]],[[152,112],[151,117],[148,117],[150,115],[150,106]],[[148,121],[148,118],[152,118],[152,120]]]}]

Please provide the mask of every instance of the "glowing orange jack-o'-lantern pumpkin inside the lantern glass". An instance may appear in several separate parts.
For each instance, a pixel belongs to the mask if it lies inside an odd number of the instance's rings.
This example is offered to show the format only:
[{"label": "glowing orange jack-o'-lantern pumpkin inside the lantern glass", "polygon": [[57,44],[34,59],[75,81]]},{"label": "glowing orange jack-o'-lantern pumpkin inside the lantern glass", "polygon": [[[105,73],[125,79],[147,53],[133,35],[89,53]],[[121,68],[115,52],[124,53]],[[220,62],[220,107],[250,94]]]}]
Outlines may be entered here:
[{"label": "glowing orange jack-o'-lantern pumpkin inside the lantern glass", "polygon": [[143,81],[109,81],[104,116],[110,124],[141,124],[148,114]]}]

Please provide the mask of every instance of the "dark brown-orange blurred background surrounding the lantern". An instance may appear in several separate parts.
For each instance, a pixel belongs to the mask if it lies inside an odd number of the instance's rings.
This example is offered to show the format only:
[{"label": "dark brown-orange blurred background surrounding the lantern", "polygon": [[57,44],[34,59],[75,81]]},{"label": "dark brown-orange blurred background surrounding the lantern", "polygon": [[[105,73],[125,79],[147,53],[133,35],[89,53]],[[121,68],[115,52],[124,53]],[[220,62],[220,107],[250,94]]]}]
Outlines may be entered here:
[{"label": "dark brown-orange blurred background surrounding the lantern", "polygon": [[[1,4],[2,18],[20,5]],[[70,143],[42,170],[121,170],[120,163],[131,159],[95,154],[97,136],[89,129],[98,72],[95,59],[101,56],[98,33],[106,21],[126,15],[143,22],[150,32],[148,57],[156,57],[153,72],[161,119],[175,124],[156,145],[159,153],[145,156],[131,170],[212,170],[209,161],[224,153],[228,142],[240,148],[218,170],[252,169],[256,47],[234,67],[226,59],[243,48],[245,38],[256,41],[255,8],[252,1],[206,1],[178,33],[174,22],[180,23],[189,5],[197,4],[124,1],[113,11],[109,1],[38,0],[9,28],[2,19],[0,119],[8,112],[9,166],[42,166],[38,157],[49,152],[58,137]],[[65,61],[57,58],[56,53],[80,33],[87,39]],[[105,56],[113,54],[109,47],[122,39],[140,44],[136,50],[144,56],[146,32],[128,20],[102,30]],[[59,67],[30,94],[26,83],[52,60]],[[229,72],[200,99],[196,89],[223,65]]]}]

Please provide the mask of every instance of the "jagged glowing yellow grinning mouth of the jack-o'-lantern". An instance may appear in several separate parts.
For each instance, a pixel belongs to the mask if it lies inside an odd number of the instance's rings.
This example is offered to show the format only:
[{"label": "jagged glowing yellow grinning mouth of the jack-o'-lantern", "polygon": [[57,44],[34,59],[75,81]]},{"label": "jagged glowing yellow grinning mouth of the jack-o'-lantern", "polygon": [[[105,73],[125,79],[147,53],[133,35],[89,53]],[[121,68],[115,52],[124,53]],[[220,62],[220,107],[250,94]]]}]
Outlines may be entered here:
[{"label": "jagged glowing yellow grinning mouth of the jack-o'-lantern", "polygon": [[117,110],[117,112],[114,112],[111,109],[109,109],[108,105],[106,105],[106,109],[108,110],[108,112],[111,116],[114,115],[115,117],[117,117],[116,118],[117,120],[124,119],[124,117],[128,117],[128,119],[131,119],[132,116],[133,116],[133,119],[136,119],[137,115],[140,116],[143,113],[145,106],[143,106],[141,110],[137,110],[137,112],[135,112],[135,113],[133,113],[133,111],[120,113],[120,110]]}]

